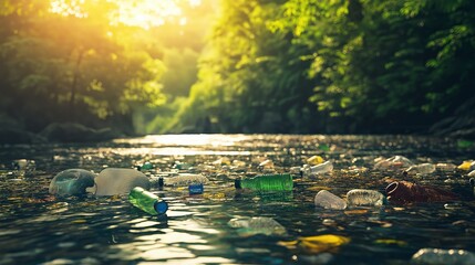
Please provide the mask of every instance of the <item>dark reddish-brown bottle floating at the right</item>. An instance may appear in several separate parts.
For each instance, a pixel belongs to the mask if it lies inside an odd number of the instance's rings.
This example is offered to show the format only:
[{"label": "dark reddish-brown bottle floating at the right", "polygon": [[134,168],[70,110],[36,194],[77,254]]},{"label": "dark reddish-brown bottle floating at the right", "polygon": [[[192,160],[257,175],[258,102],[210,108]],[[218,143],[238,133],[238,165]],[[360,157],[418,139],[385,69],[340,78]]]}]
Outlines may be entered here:
[{"label": "dark reddish-brown bottle floating at the right", "polygon": [[458,198],[453,192],[436,187],[420,186],[409,181],[392,182],[385,190],[390,202],[401,204],[453,201]]}]

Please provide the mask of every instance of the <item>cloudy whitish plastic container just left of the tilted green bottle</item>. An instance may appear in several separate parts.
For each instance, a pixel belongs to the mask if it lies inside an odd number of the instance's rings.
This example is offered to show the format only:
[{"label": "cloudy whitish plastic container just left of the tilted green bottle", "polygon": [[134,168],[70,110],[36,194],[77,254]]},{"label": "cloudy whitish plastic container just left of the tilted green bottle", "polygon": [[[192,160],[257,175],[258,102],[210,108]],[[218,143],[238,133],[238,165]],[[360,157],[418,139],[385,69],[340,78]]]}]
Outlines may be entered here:
[{"label": "cloudy whitish plastic container just left of the tilted green bottle", "polygon": [[90,189],[95,195],[127,194],[135,187],[151,188],[149,179],[138,170],[127,168],[106,168],[95,178]]}]

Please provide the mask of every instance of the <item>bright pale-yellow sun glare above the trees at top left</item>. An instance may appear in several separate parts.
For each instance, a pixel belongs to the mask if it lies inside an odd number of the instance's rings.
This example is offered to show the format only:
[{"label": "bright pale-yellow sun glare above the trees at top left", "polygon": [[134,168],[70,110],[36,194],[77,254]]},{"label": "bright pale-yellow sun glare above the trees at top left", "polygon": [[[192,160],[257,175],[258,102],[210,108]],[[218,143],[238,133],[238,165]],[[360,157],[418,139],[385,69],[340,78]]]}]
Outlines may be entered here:
[{"label": "bright pale-yellow sun glare above the trees at top left", "polygon": [[[93,0],[89,0],[93,1]],[[178,24],[187,23],[186,14],[183,13],[177,0],[104,0],[113,3],[117,10],[111,13],[112,24],[125,24],[151,29],[165,24],[167,21],[177,21]],[[202,0],[188,0],[189,7],[198,7]],[[84,8],[87,0],[52,0],[50,12],[64,17],[75,15],[86,18],[87,10]],[[95,7],[100,7],[96,4]]]}]

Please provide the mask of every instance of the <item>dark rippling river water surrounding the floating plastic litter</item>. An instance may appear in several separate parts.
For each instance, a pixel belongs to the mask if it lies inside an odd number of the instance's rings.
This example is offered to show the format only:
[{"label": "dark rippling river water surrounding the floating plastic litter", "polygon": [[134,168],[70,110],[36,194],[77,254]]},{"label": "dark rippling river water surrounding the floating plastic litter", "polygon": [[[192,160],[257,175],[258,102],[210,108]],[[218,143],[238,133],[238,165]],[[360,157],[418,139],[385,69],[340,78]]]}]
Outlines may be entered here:
[{"label": "dark rippling river water surrounding the floating plastic litter", "polygon": [[[6,145],[0,147],[0,264],[407,264],[423,247],[475,252],[467,171],[404,176],[374,169],[378,160],[395,155],[414,163],[458,166],[475,159],[475,148],[424,136],[338,135],[163,135]],[[312,156],[331,160],[333,171],[303,178],[292,173],[292,192],[234,188],[236,178],[290,172]],[[34,161],[35,170],[12,168],[19,159]],[[100,172],[147,161],[155,166],[151,177],[180,162],[192,167],[183,172],[210,181],[194,195],[183,188],[153,188],[169,204],[162,216],[135,209],[126,195],[56,198],[48,192],[51,179],[65,169]],[[342,198],[351,189],[384,194],[391,181],[402,179],[451,190],[459,200],[347,210],[313,203],[322,189]],[[269,230],[273,223],[233,225],[250,218],[273,220],[283,231]],[[318,235],[345,240],[335,245],[311,241]]]}]

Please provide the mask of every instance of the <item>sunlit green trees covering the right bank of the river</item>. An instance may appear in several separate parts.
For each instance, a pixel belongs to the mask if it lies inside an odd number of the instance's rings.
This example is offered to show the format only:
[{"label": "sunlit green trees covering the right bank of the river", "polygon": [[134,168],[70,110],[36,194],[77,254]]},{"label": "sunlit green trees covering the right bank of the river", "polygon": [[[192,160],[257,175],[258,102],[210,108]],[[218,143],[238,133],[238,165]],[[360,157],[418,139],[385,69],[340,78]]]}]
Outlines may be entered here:
[{"label": "sunlit green trees covering the right bank of the river", "polygon": [[473,97],[474,11],[468,0],[223,1],[177,123],[224,132],[428,126]]}]

